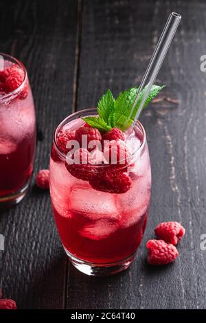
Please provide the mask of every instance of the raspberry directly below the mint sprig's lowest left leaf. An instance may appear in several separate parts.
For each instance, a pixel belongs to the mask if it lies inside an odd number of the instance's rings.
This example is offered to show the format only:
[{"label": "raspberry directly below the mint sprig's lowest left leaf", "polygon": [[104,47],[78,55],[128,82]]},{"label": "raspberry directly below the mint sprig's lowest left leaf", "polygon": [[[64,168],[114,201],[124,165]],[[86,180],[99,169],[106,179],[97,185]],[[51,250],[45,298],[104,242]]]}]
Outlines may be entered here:
[{"label": "raspberry directly below the mint sprig's lowest left leaf", "polygon": [[[97,142],[100,142],[102,140],[102,135],[98,129],[95,128],[89,128],[88,126],[82,126],[76,131],[76,140],[80,143],[82,146],[82,135],[87,135],[87,144],[89,145],[89,142],[92,140],[95,140]],[[88,148],[88,151],[92,151],[94,148],[96,148],[97,145],[93,145],[92,148]]]}]

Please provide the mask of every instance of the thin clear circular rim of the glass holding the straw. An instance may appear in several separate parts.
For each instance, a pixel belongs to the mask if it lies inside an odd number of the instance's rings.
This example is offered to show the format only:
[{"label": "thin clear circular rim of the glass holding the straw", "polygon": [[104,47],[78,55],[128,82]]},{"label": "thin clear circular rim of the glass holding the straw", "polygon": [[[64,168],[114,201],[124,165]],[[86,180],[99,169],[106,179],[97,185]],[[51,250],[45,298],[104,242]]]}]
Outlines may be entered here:
[{"label": "thin clear circular rim of the glass holding the straw", "polygon": [[[97,109],[96,108],[88,108],[88,109],[83,109],[83,110],[80,110],[80,111],[76,111],[74,113],[71,113],[71,115],[68,115],[65,119],[63,119],[59,124],[58,126],[56,126],[56,129],[54,131],[54,134],[53,134],[53,142],[54,142],[54,145],[56,147],[56,150],[58,151],[58,154],[64,158],[64,159],[67,159],[67,155],[65,153],[62,153],[62,151],[60,151],[60,148],[58,147],[58,144],[56,142],[56,135],[59,131],[59,129],[64,125],[64,124],[67,124],[69,122],[69,119],[74,119],[76,116],[78,115],[81,115],[82,113],[89,113],[91,112],[91,115],[93,115],[92,112],[97,112]],[[143,139],[141,141],[141,144],[140,146],[137,148],[137,150],[135,150],[128,158],[125,158],[125,159],[122,159],[121,161],[128,161],[128,160],[133,160],[133,158],[135,157],[135,155],[137,155],[137,153],[141,153],[141,151],[144,149],[144,146],[146,144],[146,131],[144,129],[144,126],[141,124],[141,122],[139,122],[139,120],[137,120],[136,122],[134,122],[135,125],[138,125],[142,131],[142,134],[143,134]],[[121,162],[119,161],[119,162]],[[110,164],[103,164],[103,165],[92,165],[93,167],[109,167],[111,166]],[[122,165],[125,167],[125,165]]]}]

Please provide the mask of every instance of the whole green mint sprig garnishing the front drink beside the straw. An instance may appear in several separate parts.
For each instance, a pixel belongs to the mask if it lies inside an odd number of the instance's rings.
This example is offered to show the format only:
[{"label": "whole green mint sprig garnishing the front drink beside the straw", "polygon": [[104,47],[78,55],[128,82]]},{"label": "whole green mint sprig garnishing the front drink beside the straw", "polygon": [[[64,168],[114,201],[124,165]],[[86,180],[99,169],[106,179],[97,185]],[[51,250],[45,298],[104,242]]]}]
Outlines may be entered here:
[{"label": "whole green mint sprig garnishing the front drink beside the straw", "polygon": [[[165,87],[164,85],[159,87],[158,85],[152,85],[148,98],[144,104],[144,107],[157,96],[159,91]],[[104,96],[98,102],[98,117],[82,117],[93,128],[97,128],[100,131],[110,131],[114,127],[119,128],[122,131],[126,131],[133,123],[135,115],[139,109],[140,103],[144,97],[146,87],[141,91],[139,100],[135,106],[135,109],[131,114],[133,102],[137,96],[138,87],[130,88],[119,94],[117,100],[113,98],[113,94],[110,89],[106,91]]]}]

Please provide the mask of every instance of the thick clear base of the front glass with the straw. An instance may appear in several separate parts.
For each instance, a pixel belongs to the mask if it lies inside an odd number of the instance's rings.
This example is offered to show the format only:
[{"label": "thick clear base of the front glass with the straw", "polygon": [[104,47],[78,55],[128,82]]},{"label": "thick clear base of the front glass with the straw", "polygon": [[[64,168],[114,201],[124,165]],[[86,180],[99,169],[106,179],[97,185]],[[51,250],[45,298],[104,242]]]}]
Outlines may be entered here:
[{"label": "thick clear base of the front glass with the straw", "polygon": [[76,267],[76,269],[81,271],[83,274],[89,276],[110,276],[117,274],[120,271],[126,270],[128,267],[130,267],[136,254],[135,252],[127,258],[117,261],[116,263],[95,264],[76,258],[72,254],[70,254],[70,252],[68,252],[68,250],[65,247],[64,249],[72,265]]}]

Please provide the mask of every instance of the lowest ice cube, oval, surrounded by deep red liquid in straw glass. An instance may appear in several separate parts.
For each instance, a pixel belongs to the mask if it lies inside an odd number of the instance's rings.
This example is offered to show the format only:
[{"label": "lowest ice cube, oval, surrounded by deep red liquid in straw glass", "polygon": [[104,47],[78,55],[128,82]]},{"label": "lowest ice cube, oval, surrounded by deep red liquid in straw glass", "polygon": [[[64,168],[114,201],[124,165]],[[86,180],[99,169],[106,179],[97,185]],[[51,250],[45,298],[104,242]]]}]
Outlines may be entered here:
[{"label": "lowest ice cube, oval, surrounded by deep red liquid in straw glass", "polygon": [[108,238],[113,232],[117,230],[117,223],[102,219],[93,221],[87,225],[84,225],[82,229],[78,231],[81,236],[92,240],[102,240]]}]

